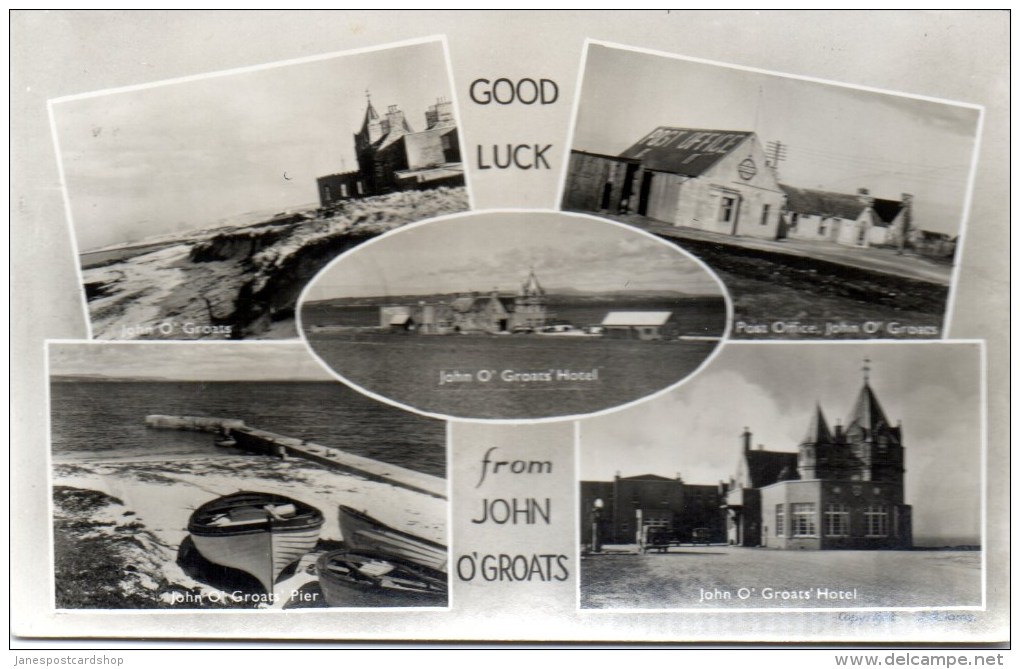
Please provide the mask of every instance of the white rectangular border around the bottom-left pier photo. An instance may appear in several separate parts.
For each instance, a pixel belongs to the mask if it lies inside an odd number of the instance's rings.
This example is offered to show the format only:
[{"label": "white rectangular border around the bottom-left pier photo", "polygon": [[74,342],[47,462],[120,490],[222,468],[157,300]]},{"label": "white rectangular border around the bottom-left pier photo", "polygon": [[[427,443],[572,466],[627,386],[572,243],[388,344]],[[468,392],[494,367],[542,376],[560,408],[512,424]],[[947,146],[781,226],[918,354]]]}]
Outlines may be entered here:
[{"label": "white rectangular border around the bottom-left pier photo", "polygon": [[[61,608],[57,607],[57,605],[56,605],[56,539],[55,539],[55,530],[54,530],[54,524],[55,523],[54,523],[54,506],[53,506],[53,427],[52,427],[52,424],[51,424],[52,423],[51,417],[53,415],[53,406],[52,406],[52,396],[51,396],[51,391],[52,391],[52,380],[51,380],[51,378],[52,377],[51,377],[51,373],[50,373],[50,347],[52,345],[58,345],[58,346],[97,346],[97,347],[105,347],[105,346],[113,346],[113,347],[118,347],[118,346],[152,346],[152,347],[156,347],[156,348],[163,347],[163,346],[188,346],[188,347],[209,346],[209,347],[221,347],[221,346],[224,346],[224,345],[225,346],[231,346],[231,344],[232,343],[230,343],[230,342],[202,342],[202,341],[187,341],[187,340],[184,340],[184,341],[168,340],[168,341],[153,341],[153,342],[137,341],[137,340],[112,341],[112,342],[98,341],[98,340],[46,340],[46,342],[44,344],[45,347],[46,347],[46,355],[45,355],[44,365],[45,365],[45,373],[46,373],[46,471],[47,471],[47,475],[48,475],[48,479],[46,481],[46,492],[47,492],[47,505],[48,505],[47,519],[49,521],[48,522],[48,526],[47,526],[47,536],[49,538],[49,547],[48,547],[49,550],[47,551],[47,557],[49,558],[49,567],[50,567],[49,586],[50,586],[50,595],[51,595],[50,600],[47,602],[47,605],[49,606],[49,611],[51,613],[57,613],[57,614],[61,614],[61,615],[91,615],[91,614],[99,614],[99,615],[106,615],[106,614],[110,614],[110,615],[123,615],[123,614],[130,614],[130,615],[135,615],[135,614],[142,614],[142,615],[153,615],[153,614],[155,614],[155,615],[161,615],[161,614],[168,614],[168,615],[192,615],[192,614],[199,614],[199,615],[203,615],[203,616],[208,616],[210,614],[211,615],[218,615],[218,616],[223,616],[223,615],[244,615],[244,616],[252,616],[252,615],[255,615],[255,616],[266,616],[266,615],[269,615],[269,616],[279,616],[279,615],[284,615],[284,614],[291,615],[291,614],[295,614],[295,613],[297,613],[297,614],[315,614],[315,613],[321,614],[323,612],[326,612],[326,613],[329,613],[329,612],[366,613],[366,614],[375,614],[375,613],[384,613],[384,614],[385,613],[406,614],[406,613],[414,613],[414,612],[418,612],[418,611],[421,611],[421,612],[436,612],[436,611],[439,611],[439,612],[450,612],[450,611],[453,611],[453,605],[454,605],[454,601],[453,601],[454,574],[449,571],[449,568],[448,568],[448,570],[446,572],[446,575],[447,575],[447,605],[445,607],[304,607],[304,608],[295,608],[295,609],[188,609],[188,608],[181,608],[181,609],[156,609],[156,608],[152,608],[152,609],[61,609]],[[246,343],[245,342],[234,342],[233,344],[235,344],[235,345],[242,344],[243,345],[243,344],[246,344]],[[301,343],[298,340],[264,341],[264,342],[259,342],[258,344],[260,344],[262,346],[270,347],[270,348],[271,347],[290,347],[290,348],[297,349],[298,347],[301,346]],[[306,379],[291,379],[291,380],[304,381]],[[195,379],[195,381],[196,382],[202,382],[202,379]],[[269,380],[241,379],[241,380],[239,380],[237,382],[239,382],[239,383],[270,382],[271,383],[271,382],[273,382],[273,379],[269,379]],[[288,382],[288,381],[285,380],[285,381],[279,381],[279,382]],[[323,378],[323,379],[311,378],[311,379],[307,379],[307,382],[309,382],[309,383],[334,383],[335,381],[333,381],[330,379],[327,379],[327,378]],[[350,389],[348,387],[348,390],[353,390],[353,389]],[[448,555],[450,555],[451,551],[452,551],[452,548],[453,548],[453,545],[452,545],[452,539],[453,539],[453,501],[451,500],[451,494],[452,494],[452,491],[453,491],[453,485],[452,485],[451,476],[450,476],[450,472],[453,469],[453,464],[452,464],[452,460],[451,460],[451,456],[453,455],[453,442],[452,442],[452,435],[451,435],[451,429],[450,429],[450,423],[449,422],[447,422],[444,425],[444,442],[445,442],[445,450],[446,450],[446,475],[443,477],[444,480],[446,481],[446,500],[445,500],[446,507],[447,507],[447,513],[446,513],[446,521],[447,521],[447,525],[446,525],[446,545],[447,545],[447,553],[448,553]]]}]

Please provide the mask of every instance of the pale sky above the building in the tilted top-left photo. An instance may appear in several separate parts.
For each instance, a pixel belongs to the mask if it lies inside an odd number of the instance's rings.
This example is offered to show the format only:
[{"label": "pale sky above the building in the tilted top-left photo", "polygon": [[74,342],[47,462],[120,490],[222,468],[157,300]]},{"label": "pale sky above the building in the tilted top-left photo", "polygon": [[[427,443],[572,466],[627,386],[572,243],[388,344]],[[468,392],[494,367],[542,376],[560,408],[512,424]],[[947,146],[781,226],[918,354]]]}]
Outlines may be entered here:
[{"label": "pale sky above the building in the tilted top-left photo", "polygon": [[79,250],[317,204],[317,176],[358,168],[366,90],[424,130],[442,42],[54,102]]}]

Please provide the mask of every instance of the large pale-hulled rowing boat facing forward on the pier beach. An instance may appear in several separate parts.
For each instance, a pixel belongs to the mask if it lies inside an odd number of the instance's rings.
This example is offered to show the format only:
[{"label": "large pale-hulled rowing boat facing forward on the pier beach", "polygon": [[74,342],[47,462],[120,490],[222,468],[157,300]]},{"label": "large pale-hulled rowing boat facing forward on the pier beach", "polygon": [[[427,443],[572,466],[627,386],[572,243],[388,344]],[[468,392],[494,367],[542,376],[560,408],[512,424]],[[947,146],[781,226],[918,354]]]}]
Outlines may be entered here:
[{"label": "large pale-hulled rowing boat facing forward on the pier beach", "polygon": [[207,502],[188,521],[209,562],[240,569],[267,593],[279,574],[318,542],[322,512],[283,495],[241,492]]}]

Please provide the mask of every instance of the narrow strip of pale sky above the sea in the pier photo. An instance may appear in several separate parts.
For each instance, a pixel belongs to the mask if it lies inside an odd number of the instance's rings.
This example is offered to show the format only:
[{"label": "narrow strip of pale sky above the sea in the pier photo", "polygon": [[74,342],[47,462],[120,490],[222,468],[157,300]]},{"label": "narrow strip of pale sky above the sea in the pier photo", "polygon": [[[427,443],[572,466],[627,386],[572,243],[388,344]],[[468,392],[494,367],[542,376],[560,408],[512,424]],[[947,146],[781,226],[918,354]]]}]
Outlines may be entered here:
[{"label": "narrow strip of pale sky above the sea in the pier photo", "polygon": [[54,343],[50,374],[172,380],[334,380],[300,342],[258,344]]}]

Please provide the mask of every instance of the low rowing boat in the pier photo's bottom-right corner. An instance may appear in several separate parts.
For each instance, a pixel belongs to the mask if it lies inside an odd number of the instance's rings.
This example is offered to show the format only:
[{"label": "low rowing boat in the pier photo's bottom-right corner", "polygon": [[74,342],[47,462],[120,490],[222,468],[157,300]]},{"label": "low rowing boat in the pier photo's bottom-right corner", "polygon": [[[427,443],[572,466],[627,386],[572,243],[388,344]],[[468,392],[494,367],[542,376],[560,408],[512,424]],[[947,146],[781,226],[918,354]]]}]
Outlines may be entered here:
[{"label": "low rowing boat in the pier photo's bottom-right corner", "polygon": [[330,551],[316,562],[319,589],[332,607],[445,607],[447,575],[368,551]]}]

